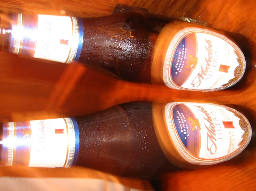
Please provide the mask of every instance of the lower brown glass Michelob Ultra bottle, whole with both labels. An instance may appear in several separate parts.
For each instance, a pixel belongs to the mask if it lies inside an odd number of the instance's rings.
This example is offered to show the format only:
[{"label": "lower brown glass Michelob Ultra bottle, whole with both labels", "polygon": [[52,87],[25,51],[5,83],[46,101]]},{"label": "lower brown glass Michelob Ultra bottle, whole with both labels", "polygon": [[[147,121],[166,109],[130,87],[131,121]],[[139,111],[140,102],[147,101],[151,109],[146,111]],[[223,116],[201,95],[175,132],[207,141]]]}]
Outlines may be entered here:
[{"label": "lower brown glass Michelob Ultra bottle, whole with both labels", "polygon": [[247,118],[223,105],[130,102],[82,117],[3,123],[0,161],[155,179],[227,161],[251,134]]}]

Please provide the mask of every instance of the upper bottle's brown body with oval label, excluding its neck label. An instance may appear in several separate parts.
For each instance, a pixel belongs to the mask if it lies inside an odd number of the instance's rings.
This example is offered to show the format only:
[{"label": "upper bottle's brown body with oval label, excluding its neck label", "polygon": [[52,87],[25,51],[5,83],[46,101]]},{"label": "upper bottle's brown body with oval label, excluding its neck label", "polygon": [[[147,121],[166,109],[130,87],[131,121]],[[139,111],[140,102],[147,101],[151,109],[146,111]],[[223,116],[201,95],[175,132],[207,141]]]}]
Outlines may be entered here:
[{"label": "upper bottle's brown body with oval label, excluding its neck label", "polygon": [[245,72],[244,54],[220,30],[147,12],[83,23],[85,34],[95,31],[95,23],[99,30],[85,35],[80,62],[89,61],[128,81],[214,91],[232,86]]}]

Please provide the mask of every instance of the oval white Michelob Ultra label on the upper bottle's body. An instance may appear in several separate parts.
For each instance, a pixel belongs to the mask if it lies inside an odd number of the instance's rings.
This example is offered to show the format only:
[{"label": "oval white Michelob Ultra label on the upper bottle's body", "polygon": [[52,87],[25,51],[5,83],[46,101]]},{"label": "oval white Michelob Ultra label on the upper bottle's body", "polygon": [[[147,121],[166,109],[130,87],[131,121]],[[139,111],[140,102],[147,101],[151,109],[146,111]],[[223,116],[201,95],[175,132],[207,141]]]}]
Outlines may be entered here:
[{"label": "oval white Michelob Ultra label on the upper bottle's body", "polygon": [[213,91],[238,82],[245,57],[227,37],[206,29],[185,28],[171,41],[164,61],[164,82],[170,88]]}]

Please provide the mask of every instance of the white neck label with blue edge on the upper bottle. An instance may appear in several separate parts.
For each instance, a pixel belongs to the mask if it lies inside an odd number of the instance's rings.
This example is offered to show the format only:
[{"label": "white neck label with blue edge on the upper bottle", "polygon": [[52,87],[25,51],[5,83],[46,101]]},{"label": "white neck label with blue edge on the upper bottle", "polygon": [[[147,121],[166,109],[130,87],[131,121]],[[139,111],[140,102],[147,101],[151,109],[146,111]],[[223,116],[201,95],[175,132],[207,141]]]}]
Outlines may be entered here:
[{"label": "white neck label with blue edge on the upper bottle", "polygon": [[10,52],[62,63],[78,61],[83,42],[80,18],[14,14]]}]

